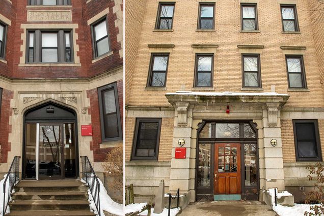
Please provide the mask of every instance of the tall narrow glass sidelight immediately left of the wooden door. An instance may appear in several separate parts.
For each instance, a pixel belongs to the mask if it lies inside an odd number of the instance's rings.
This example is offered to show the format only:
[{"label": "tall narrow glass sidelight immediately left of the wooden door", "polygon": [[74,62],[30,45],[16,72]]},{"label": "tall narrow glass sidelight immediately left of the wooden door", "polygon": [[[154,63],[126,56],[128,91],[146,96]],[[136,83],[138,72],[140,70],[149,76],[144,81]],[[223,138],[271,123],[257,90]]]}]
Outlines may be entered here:
[{"label": "tall narrow glass sidelight immediately left of the wooden door", "polygon": [[210,186],[210,144],[199,144],[198,186]]}]

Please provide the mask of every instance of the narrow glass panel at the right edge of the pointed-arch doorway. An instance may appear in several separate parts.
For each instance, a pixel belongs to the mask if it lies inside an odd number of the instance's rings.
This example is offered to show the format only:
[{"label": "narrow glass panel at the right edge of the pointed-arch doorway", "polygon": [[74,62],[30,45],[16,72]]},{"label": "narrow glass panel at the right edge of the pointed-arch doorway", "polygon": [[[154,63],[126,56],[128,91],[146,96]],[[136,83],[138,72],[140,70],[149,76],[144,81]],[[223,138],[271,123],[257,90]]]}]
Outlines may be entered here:
[{"label": "narrow glass panel at the right edge of the pointed-arch doorway", "polygon": [[66,178],[75,177],[75,139],[74,124],[63,125],[64,137],[64,175]]}]

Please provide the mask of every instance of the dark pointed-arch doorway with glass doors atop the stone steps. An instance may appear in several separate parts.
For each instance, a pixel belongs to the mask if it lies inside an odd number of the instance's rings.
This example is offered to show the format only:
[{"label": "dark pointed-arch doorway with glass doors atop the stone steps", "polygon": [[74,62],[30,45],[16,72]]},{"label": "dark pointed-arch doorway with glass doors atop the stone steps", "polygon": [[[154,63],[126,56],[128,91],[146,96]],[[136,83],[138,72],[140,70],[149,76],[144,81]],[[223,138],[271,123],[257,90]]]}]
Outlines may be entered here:
[{"label": "dark pointed-arch doorway with glass doors atop the stone steps", "polygon": [[76,178],[77,116],[54,102],[31,108],[23,118],[23,179]]}]

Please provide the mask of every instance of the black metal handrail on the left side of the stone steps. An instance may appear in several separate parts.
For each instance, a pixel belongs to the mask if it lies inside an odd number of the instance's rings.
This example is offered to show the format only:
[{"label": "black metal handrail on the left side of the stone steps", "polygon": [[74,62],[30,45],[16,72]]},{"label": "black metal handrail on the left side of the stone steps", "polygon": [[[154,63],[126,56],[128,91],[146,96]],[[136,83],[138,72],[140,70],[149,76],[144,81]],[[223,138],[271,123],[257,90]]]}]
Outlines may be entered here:
[{"label": "black metal handrail on the left side of the stone steps", "polygon": [[[14,157],[14,159],[11,163],[11,166],[9,168],[9,171],[7,173],[7,177],[4,181],[3,215],[5,215],[5,213],[6,213],[12,190],[13,190],[14,186],[17,184],[17,182],[19,181],[19,161],[20,161],[19,159],[20,159],[19,156]],[[7,183],[8,183],[8,194],[7,194],[7,200],[6,200]]]}]

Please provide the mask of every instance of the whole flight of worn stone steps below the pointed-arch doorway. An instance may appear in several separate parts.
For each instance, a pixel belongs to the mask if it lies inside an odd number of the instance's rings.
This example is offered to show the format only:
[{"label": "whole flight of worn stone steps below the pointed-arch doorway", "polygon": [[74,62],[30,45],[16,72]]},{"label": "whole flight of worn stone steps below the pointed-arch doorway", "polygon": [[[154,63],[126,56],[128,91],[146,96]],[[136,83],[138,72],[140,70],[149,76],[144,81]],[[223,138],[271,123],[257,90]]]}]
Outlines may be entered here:
[{"label": "whole flight of worn stone steps below the pointed-arch doorway", "polygon": [[88,187],[79,180],[23,180],[14,188],[8,216],[94,216]]}]

